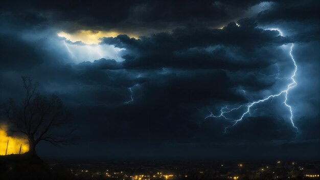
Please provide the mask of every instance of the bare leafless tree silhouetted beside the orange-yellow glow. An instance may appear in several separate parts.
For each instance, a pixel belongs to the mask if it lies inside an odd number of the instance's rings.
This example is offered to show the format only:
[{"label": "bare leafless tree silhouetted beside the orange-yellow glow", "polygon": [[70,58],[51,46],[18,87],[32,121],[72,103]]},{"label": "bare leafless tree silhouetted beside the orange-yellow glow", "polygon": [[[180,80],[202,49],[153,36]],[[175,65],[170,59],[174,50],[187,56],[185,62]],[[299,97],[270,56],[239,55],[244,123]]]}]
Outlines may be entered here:
[{"label": "bare leafless tree silhouetted beside the orange-yellow glow", "polygon": [[[52,95],[47,98],[38,93],[39,83],[33,83],[30,77],[22,77],[26,95],[23,102],[16,104],[9,99],[5,114],[10,121],[10,130],[29,141],[29,154],[37,156],[36,146],[40,141],[54,145],[70,142],[72,130],[65,126],[72,119],[60,98]],[[64,130],[62,130],[64,129]]]}]

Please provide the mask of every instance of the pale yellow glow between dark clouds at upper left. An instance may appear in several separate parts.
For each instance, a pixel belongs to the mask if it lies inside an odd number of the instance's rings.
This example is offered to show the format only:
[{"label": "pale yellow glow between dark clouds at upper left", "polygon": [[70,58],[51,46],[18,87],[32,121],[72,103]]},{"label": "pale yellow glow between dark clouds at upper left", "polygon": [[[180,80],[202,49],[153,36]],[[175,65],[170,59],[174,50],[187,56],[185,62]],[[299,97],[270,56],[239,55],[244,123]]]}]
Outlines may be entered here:
[{"label": "pale yellow glow between dark clouds at upper left", "polygon": [[[63,31],[58,33],[58,36],[65,37],[66,39],[76,42],[76,41],[82,41],[86,44],[97,44],[100,42],[99,38],[101,37],[116,37],[118,36],[119,32],[115,31],[87,31],[87,30],[81,30],[77,31],[75,33],[69,34],[65,33]],[[129,35],[130,36],[130,35]],[[130,36],[134,37],[134,36]],[[136,38],[136,37],[134,37]]]}]

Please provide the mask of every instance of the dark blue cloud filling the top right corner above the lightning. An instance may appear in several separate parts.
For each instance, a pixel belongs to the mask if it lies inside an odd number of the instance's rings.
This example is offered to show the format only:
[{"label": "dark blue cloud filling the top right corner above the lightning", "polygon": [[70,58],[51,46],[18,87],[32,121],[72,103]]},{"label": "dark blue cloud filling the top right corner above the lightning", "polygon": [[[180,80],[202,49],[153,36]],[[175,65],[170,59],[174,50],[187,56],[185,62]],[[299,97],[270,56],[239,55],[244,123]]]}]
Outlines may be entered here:
[{"label": "dark blue cloud filling the top right corner above the lightning", "polygon": [[320,39],[318,1],[275,1],[272,8],[255,16],[261,25],[283,27],[292,42],[309,42]]}]

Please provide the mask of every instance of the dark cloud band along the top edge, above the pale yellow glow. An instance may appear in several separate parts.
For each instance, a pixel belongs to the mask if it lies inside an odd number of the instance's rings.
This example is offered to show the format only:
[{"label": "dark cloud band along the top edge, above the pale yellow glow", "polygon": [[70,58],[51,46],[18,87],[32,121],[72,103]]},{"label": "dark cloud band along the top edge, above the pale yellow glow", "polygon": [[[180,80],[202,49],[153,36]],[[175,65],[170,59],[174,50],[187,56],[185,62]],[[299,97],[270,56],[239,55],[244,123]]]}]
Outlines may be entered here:
[{"label": "dark cloud band along the top edge, above the pale yellow glow", "polygon": [[[135,30],[149,34],[175,27],[215,27],[245,14],[260,1],[28,1],[3,2],[3,11],[39,12],[64,31]],[[23,13],[21,13],[23,14]],[[141,32],[140,32],[141,31]]]}]

